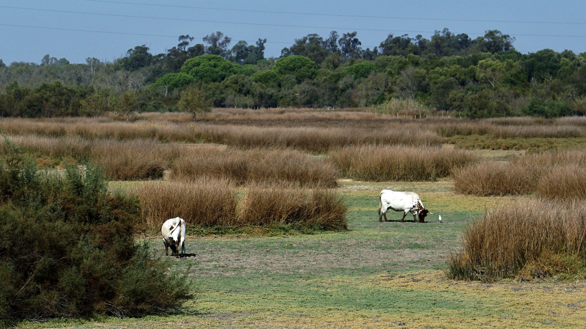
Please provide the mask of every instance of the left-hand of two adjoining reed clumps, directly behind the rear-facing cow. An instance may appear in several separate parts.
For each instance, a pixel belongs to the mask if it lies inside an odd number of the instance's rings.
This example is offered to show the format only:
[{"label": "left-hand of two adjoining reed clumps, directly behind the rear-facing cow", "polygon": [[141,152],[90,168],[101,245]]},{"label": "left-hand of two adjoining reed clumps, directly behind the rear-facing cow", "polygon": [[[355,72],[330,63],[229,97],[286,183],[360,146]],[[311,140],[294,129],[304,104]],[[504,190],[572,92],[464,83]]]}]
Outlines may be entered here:
[{"label": "left-hand of two adjoining reed clumps, directly behind the rear-facing cow", "polygon": [[139,187],[136,193],[141,217],[149,228],[157,228],[175,217],[202,226],[229,226],[237,222],[236,195],[227,180],[152,181]]}]

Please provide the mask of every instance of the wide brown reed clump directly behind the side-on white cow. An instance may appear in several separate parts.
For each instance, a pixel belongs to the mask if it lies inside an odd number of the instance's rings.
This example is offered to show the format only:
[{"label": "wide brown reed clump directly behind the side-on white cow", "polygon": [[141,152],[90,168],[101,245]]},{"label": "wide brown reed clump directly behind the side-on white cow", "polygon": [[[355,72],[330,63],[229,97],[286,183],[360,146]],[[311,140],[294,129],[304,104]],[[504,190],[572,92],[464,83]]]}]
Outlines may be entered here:
[{"label": "wide brown reed clump directly behind the side-on white cow", "polygon": [[352,179],[424,181],[448,177],[478,157],[455,149],[349,146],[330,153],[328,160],[338,166],[343,176]]}]

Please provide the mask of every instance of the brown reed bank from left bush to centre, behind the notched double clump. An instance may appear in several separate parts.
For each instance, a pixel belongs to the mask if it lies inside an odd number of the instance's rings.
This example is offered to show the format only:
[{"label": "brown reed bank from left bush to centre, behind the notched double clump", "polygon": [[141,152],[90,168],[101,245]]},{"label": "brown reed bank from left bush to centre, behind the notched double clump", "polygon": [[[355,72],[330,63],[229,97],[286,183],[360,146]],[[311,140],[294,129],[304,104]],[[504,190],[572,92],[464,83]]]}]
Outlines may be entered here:
[{"label": "brown reed bank from left bush to centre, behind the notched double clump", "polygon": [[[336,187],[338,171],[295,150],[237,150],[214,145],[160,143],[155,140],[83,139],[79,137],[9,136],[26,152],[55,158],[71,157],[79,163],[103,167],[111,180],[158,179],[170,170],[171,179],[200,177],[297,183],[301,186]],[[0,142],[2,138],[0,138]],[[0,144],[0,150],[4,145]]]}]

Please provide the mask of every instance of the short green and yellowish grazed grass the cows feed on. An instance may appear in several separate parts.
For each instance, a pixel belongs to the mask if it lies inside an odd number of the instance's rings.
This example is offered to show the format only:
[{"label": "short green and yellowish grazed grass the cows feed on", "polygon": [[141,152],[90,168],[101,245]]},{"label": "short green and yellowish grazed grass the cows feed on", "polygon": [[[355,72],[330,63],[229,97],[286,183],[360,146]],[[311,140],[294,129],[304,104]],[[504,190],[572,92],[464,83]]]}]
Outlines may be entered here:
[{"label": "short green and yellowish grazed grass the cows feed on", "polygon": [[[23,327],[66,328],[580,328],[584,279],[498,283],[449,280],[442,272],[467,221],[513,198],[461,196],[435,183],[343,181],[349,231],[278,237],[188,237],[173,266],[191,268],[200,290],[193,314],[97,318]],[[442,215],[377,221],[381,189],[413,190]],[[159,238],[147,237],[155,255]]]}]

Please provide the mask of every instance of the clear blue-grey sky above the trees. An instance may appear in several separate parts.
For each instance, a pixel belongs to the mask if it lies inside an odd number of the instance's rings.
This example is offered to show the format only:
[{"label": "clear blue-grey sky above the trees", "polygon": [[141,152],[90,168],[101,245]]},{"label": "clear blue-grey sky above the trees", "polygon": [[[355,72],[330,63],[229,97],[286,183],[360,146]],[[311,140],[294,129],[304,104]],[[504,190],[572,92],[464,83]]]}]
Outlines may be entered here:
[{"label": "clear blue-grey sky above the trees", "polygon": [[309,33],[327,37],[331,30],[339,35],[356,31],[362,47],[372,49],[389,33],[429,39],[444,28],[472,38],[498,29],[515,37],[513,46],[523,53],[545,48],[582,53],[584,13],[584,0],[0,0],[0,59],[40,63],[50,54],[71,63],[85,63],[87,57],[113,61],[137,45],[158,54],[176,46],[179,35],[203,43],[202,37],[216,31],[231,37],[231,46],[266,38],[265,57],[278,57],[283,47]]}]

